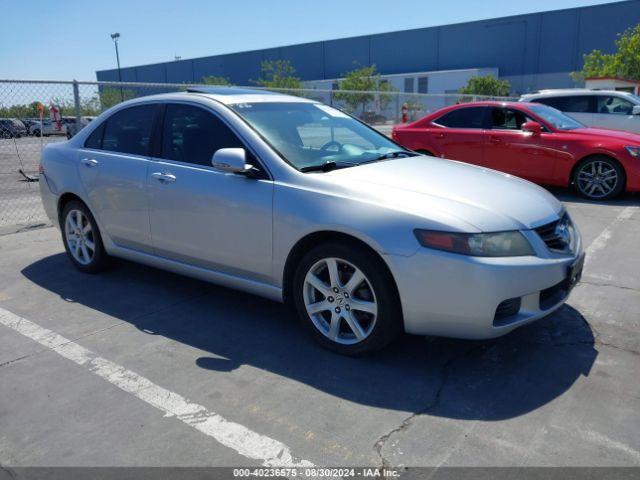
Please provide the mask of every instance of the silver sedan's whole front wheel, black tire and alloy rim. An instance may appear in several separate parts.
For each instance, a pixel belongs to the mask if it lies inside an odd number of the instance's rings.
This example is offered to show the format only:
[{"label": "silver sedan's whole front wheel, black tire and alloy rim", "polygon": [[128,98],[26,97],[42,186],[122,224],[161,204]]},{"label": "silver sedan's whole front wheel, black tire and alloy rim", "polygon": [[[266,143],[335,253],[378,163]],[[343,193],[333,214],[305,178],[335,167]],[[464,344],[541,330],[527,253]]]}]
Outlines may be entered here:
[{"label": "silver sedan's whole front wheel, black tire and alloy rim", "polygon": [[325,347],[360,355],[386,346],[401,330],[399,301],[382,261],[341,244],[314,248],[294,279],[298,315]]}]

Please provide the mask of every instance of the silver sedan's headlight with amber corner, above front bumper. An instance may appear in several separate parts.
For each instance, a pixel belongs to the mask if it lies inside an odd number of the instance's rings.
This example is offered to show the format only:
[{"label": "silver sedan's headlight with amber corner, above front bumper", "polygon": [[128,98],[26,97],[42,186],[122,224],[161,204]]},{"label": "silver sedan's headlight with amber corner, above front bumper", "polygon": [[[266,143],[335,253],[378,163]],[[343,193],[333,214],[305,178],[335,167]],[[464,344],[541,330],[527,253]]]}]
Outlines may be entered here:
[{"label": "silver sedan's headlight with amber corner, above front bumper", "polygon": [[535,255],[524,236],[517,231],[496,233],[452,233],[414,230],[420,245],[474,257],[520,257]]}]

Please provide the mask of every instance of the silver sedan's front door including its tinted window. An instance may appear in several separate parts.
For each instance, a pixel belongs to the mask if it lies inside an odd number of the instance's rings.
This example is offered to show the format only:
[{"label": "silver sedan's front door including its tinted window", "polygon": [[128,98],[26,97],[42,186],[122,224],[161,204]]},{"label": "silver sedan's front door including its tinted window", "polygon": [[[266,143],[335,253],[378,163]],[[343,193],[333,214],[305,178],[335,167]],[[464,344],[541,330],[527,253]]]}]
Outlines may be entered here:
[{"label": "silver sedan's front door including its tinted window", "polygon": [[166,106],[161,143],[147,176],[155,253],[268,281],[273,182],[211,166],[216,150],[245,145],[213,112],[186,103]]}]

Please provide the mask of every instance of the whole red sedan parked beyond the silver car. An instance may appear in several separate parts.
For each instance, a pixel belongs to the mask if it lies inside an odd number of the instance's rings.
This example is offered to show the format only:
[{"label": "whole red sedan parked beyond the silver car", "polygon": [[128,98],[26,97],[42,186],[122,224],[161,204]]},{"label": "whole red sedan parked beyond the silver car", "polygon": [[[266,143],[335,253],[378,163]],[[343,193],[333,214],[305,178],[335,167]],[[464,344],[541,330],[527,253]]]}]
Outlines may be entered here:
[{"label": "whole red sedan parked beyond the silver car", "polygon": [[393,129],[392,137],[427,155],[569,186],[592,199],[640,191],[640,135],[586,128],[537,103],[473,102],[442,108]]}]

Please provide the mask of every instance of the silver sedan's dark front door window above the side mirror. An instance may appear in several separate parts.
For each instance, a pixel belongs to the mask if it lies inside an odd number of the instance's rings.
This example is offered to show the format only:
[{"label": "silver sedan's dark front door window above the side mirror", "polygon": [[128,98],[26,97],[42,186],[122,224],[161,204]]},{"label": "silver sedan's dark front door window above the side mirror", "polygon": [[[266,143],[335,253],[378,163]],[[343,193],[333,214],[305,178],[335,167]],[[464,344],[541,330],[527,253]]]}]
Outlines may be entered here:
[{"label": "silver sedan's dark front door window above the side mirror", "polygon": [[214,152],[221,148],[244,148],[244,145],[211,112],[192,105],[167,105],[162,131],[162,158],[211,166]]}]

